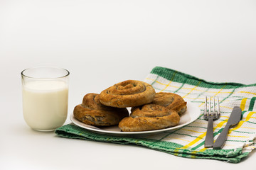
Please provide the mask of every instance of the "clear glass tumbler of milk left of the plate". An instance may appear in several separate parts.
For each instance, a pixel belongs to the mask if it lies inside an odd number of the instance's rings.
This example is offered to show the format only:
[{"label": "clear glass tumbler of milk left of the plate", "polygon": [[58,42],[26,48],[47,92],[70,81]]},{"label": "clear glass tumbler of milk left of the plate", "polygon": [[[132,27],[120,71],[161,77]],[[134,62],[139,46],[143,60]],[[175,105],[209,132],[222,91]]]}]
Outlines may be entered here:
[{"label": "clear glass tumbler of milk left of the plate", "polygon": [[53,131],[68,115],[68,78],[66,69],[37,67],[21,72],[23,118],[38,131]]}]

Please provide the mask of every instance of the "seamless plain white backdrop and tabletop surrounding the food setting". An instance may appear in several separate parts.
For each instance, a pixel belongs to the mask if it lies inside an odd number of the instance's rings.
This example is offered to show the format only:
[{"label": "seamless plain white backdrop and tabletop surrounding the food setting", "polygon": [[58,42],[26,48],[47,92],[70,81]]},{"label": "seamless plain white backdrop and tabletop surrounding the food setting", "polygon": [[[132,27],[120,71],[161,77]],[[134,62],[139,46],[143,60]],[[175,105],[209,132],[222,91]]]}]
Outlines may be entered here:
[{"label": "seamless plain white backdrop and tabletop surrounding the food setting", "polygon": [[68,69],[68,115],[85,94],[143,80],[155,66],[255,84],[255,17],[256,1],[245,0],[0,0],[0,169],[253,169],[255,151],[230,164],[31,130],[20,73]]}]

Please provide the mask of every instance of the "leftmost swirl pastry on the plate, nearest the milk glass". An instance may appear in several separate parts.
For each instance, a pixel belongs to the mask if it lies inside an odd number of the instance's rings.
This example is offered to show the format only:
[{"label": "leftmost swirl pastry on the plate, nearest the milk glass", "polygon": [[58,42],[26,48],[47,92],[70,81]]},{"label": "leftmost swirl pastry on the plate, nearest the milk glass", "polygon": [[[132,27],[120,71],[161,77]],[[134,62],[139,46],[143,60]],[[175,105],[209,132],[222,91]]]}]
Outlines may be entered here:
[{"label": "leftmost swirl pastry on the plate, nearest the milk glass", "polygon": [[127,108],[112,108],[100,103],[99,94],[86,94],[82,104],[75,106],[74,117],[87,125],[117,125],[122,118],[129,116]]}]

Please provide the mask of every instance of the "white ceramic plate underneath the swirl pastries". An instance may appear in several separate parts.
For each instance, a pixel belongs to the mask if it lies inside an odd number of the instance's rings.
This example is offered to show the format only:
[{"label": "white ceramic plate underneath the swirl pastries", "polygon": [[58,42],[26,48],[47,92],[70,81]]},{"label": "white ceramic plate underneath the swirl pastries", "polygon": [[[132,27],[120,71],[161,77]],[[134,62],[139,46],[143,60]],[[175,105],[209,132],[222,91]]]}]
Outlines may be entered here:
[{"label": "white ceramic plate underneath the swirl pastries", "polygon": [[142,132],[121,132],[121,130],[118,128],[117,125],[109,126],[109,127],[95,127],[92,125],[86,125],[85,123],[80,122],[77,120],[73,114],[70,115],[70,120],[75,124],[78,125],[81,128],[84,128],[86,130],[91,130],[93,132],[97,132],[100,134],[105,135],[149,135],[153,133],[159,133],[159,132],[165,132],[165,131],[171,131],[176,130],[178,128],[182,128],[185,125],[188,125],[189,123],[192,123],[195,121],[201,114],[200,108],[196,106],[195,104],[191,102],[187,102],[187,111],[181,115],[180,123],[174,127],[171,128],[165,128],[161,130],[149,130],[149,131],[142,131]]}]

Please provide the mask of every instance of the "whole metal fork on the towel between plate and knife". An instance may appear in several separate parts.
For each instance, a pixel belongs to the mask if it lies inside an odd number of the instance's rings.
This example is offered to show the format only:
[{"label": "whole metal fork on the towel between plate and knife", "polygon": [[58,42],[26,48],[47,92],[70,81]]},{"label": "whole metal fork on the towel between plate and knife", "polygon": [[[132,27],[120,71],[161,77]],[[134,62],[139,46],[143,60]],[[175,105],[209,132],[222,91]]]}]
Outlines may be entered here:
[{"label": "whole metal fork on the towel between plate and knife", "polygon": [[220,102],[218,96],[206,96],[203,118],[208,120],[206,140],[204,146],[206,148],[213,147],[213,120],[220,118]]}]

